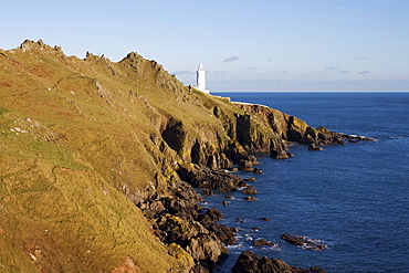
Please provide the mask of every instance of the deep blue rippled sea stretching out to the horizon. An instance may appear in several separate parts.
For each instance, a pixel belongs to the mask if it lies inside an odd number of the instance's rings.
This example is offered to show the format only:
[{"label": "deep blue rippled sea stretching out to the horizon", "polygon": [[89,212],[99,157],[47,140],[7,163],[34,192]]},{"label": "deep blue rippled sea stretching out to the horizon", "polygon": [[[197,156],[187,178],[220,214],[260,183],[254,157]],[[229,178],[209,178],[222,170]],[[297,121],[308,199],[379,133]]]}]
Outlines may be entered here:
[{"label": "deep blue rippled sea stretching out to the horizon", "polygon": [[[310,126],[373,138],[310,151],[292,145],[289,159],[255,154],[263,175],[241,191],[216,192],[203,204],[239,230],[238,242],[216,272],[231,272],[242,251],[326,272],[409,272],[409,93],[217,93],[233,102],[262,104]],[[224,196],[230,196],[227,199]],[[223,206],[222,201],[228,204]],[[261,220],[262,218],[266,218]],[[295,246],[280,237],[303,235],[325,250]],[[253,248],[258,239],[276,243]]]}]

